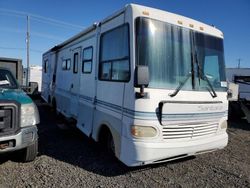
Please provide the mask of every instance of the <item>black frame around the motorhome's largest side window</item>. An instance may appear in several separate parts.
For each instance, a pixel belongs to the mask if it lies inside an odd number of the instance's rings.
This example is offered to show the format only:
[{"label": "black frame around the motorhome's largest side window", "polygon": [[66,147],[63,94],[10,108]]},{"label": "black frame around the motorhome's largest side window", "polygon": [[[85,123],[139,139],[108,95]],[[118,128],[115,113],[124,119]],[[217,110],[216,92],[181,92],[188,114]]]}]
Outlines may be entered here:
[{"label": "black frame around the motorhome's largest side window", "polygon": [[[116,59],[110,59],[110,60],[105,60],[105,61],[101,61],[101,58],[102,58],[102,55],[101,55],[101,52],[102,52],[102,37],[107,34],[107,33],[110,33],[118,28],[121,28],[121,27],[125,27],[126,26],[126,29],[128,31],[128,56],[127,57],[123,57],[123,58],[116,58]],[[121,24],[117,27],[114,27],[108,31],[105,31],[101,34],[100,36],[100,43],[99,43],[99,69],[98,69],[98,80],[100,81],[109,81],[109,82],[124,82],[124,83],[128,83],[130,82],[131,80],[131,57],[130,57],[130,50],[131,50],[131,47],[130,47],[130,26],[129,26],[129,23],[124,23],[124,24]],[[104,63],[111,63],[111,72],[113,72],[113,63],[116,62],[116,61],[123,61],[123,60],[128,60],[128,66],[129,66],[129,76],[128,76],[128,79],[127,80],[113,80],[112,79],[112,74],[110,75],[110,78],[109,79],[103,79],[101,78],[101,70],[102,70],[102,65]]]}]

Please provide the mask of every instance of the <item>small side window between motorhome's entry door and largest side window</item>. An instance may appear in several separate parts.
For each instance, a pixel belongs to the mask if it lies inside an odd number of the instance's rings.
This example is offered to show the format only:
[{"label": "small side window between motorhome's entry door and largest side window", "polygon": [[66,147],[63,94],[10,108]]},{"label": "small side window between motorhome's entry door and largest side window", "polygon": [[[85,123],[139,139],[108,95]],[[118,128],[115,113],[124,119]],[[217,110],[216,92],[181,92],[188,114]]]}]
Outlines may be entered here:
[{"label": "small side window between motorhome's entry door and largest side window", "polygon": [[87,47],[83,49],[82,59],[82,72],[91,73],[92,71],[92,60],[93,60],[93,47]]}]

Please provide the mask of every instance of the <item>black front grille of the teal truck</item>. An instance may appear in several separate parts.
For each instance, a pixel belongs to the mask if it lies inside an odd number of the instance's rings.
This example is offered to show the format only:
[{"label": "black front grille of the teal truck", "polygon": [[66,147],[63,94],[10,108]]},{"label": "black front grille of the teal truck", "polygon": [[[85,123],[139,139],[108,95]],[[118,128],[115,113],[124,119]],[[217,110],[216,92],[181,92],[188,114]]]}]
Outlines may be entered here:
[{"label": "black front grille of the teal truck", "polygon": [[0,136],[11,135],[19,130],[18,104],[0,101]]}]

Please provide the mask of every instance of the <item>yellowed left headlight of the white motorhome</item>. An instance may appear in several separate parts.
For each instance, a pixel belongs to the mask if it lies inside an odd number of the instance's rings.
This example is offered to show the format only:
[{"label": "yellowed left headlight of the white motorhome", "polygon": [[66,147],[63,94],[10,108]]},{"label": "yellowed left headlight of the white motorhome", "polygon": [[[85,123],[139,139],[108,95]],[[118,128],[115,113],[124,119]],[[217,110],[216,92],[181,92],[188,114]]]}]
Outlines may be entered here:
[{"label": "yellowed left headlight of the white motorhome", "polygon": [[157,130],[150,126],[133,125],[131,127],[131,134],[135,138],[149,138],[155,137],[157,135]]}]

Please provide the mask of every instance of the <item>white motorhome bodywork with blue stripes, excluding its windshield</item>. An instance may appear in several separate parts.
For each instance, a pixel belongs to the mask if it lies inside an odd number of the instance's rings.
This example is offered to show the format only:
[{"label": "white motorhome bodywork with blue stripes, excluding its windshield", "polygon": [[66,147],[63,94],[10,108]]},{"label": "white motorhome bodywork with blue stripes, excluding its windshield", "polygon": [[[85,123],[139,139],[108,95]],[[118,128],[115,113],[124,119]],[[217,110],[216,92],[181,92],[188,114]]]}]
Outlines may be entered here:
[{"label": "white motorhome bodywork with blue stripes, excluding its windshield", "polygon": [[[201,22],[149,7],[127,5],[43,55],[46,69],[42,78],[43,99],[55,105],[64,116],[76,119],[77,127],[95,141],[102,139],[106,127],[112,135],[116,157],[128,166],[224,148],[228,142],[226,91],[216,91],[217,97],[212,97],[207,90],[181,89],[171,97],[174,88],[149,85],[144,89],[146,97],[136,97],[140,92],[134,86],[137,18],[223,38],[221,31]],[[121,32],[126,36],[121,40],[125,45],[117,45],[121,52],[106,57],[106,40],[116,40]],[[123,41],[126,39],[128,43]],[[117,42],[112,41],[110,49],[114,51],[112,45]],[[119,74],[116,75],[114,67],[121,70]],[[224,81],[220,84],[226,87]]]}]

